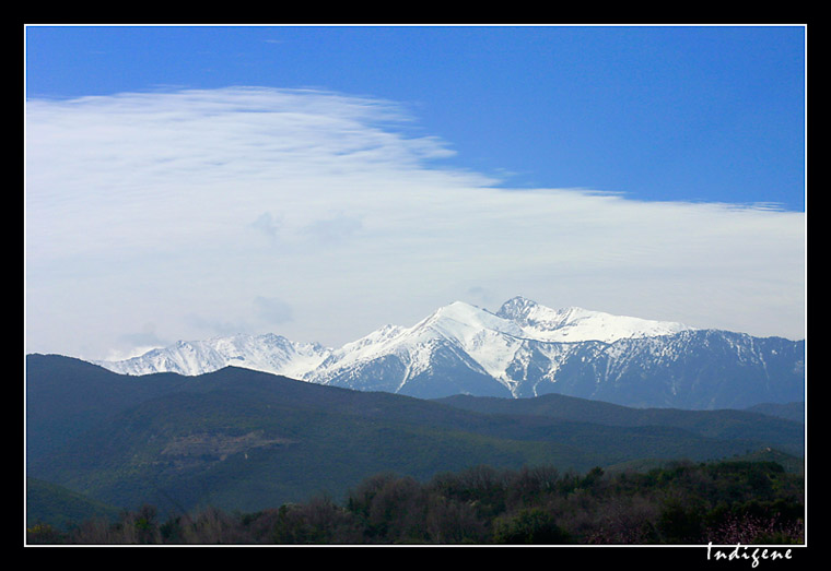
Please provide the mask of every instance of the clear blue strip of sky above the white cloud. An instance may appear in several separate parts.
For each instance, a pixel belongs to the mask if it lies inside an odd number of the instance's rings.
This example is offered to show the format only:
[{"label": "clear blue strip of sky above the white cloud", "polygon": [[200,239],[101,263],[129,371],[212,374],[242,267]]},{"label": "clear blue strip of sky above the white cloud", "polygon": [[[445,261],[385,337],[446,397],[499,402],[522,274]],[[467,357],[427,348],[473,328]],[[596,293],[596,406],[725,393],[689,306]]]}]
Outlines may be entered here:
[{"label": "clear blue strip of sky above the white cloud", "polygon": [[399,102],[524,187],[804,210],[801,27],[60,27],[30,96],[316,87]]}]

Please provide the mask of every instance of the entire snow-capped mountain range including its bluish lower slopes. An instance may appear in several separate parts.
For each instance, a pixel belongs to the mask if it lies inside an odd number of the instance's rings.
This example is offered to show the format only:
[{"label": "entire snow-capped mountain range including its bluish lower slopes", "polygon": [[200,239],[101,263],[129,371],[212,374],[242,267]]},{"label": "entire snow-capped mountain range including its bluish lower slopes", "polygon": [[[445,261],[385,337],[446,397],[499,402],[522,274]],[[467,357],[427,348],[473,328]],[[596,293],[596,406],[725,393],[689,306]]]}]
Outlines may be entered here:
[{"label": "entire snow-capped mountain range including its bluish lower slopes", "polygon": [[522,297],[495,313],[456,301],[410,328],[386,325],[340,348],[237,335],[98,365],[128,374],[200,374],[233,365],[419,397],[555,392],[682,408],[803,400],[805,367],[804,342],[554,310]]}]

